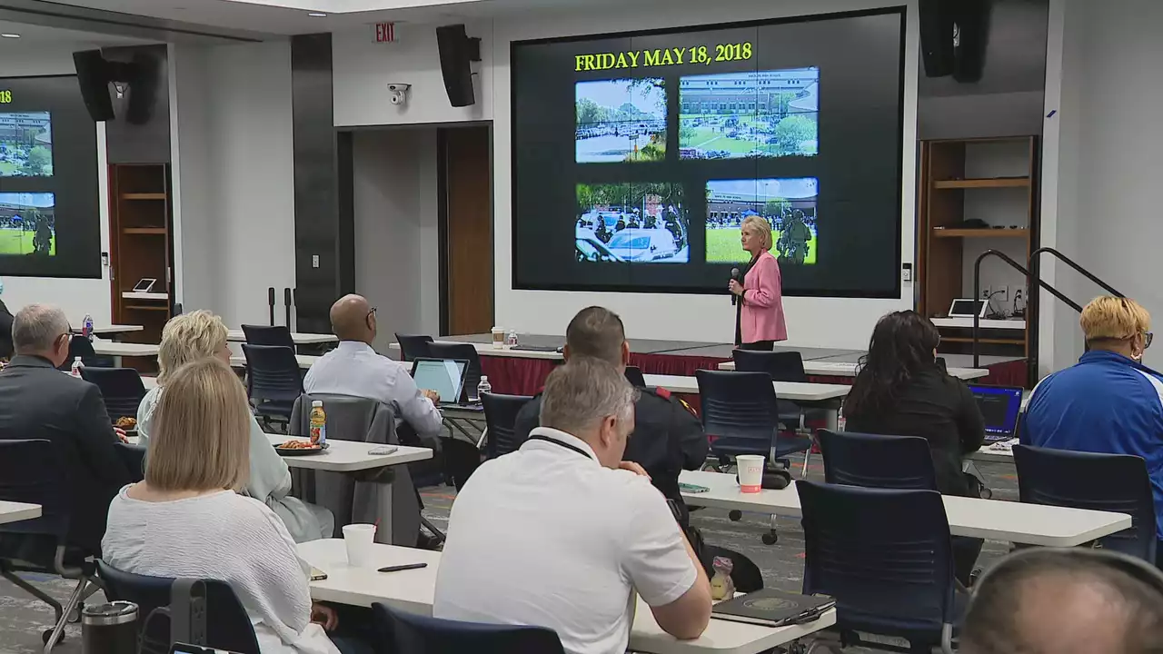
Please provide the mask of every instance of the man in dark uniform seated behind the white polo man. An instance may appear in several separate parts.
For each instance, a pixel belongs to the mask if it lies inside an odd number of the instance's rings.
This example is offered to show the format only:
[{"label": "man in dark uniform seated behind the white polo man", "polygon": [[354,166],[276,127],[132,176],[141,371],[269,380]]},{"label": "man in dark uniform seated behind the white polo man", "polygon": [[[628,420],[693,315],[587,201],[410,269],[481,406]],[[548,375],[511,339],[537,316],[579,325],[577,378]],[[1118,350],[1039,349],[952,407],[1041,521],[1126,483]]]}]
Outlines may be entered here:
[{"label": "man in dark uniform seated behind the white polo man", "polygon": [[[620,371],[630,358],[622,319],[600,306],[583,308],[565,328],[564,356],[600,358]],[[626,461],[642,465],[655,488],[668,499],[673,499],[683,512],[686,505],[678,492],[678,474],[697,470],[707,458],[706,434],[694,413],[672,397],[665,389],[641,389],[634,406],[634,433],[626,446]],[[541,414],[541,394],[521,408],[514,432],[523,442],[537,426]]]}]

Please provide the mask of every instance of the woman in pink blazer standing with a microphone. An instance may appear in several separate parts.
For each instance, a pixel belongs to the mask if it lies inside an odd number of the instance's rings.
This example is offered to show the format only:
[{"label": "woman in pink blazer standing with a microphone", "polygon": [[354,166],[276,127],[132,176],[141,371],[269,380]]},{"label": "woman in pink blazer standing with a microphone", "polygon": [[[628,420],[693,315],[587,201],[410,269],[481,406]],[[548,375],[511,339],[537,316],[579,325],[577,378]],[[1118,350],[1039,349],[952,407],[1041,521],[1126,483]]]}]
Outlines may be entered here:
[{"label": "woman in pink blazer standing with a microphone", "polygon": [[779,262],[771,255],[771,225],[750,215],[740,229],[743,249],[751,254],[743,283],[732,279],[728,287],[739,296],[735,313],[735,344],[749,350],[771,350],[787,340],[784,322],[784,289]]}]

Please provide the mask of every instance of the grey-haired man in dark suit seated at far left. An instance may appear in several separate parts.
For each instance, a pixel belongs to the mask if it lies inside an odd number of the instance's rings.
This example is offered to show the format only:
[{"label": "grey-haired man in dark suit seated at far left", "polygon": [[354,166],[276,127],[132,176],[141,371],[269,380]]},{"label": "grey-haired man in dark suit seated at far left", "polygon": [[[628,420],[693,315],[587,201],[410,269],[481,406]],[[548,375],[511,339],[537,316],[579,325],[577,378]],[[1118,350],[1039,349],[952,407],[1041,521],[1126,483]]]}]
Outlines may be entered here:
[{"label": "grey-haired man in dark suit seated at far left", "polygon": [[70,545],[100,552],[109,502],[131,482],[101,391],[57,370],[69,357],[63,311],[28,305],[12,327],[15,356],[0,370],[0,439],[45,439],[60,455],[72,498]]}]

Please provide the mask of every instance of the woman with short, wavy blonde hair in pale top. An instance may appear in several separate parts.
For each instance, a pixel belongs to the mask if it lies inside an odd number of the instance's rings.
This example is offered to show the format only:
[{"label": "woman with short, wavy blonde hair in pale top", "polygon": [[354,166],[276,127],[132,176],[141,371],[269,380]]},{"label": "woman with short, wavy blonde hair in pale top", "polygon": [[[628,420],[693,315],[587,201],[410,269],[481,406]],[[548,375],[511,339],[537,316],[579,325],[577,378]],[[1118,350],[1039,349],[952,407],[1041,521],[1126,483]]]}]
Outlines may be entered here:
[{"label": "woman with short, wavy blonde hair in pale top", "polygon": [[[169,384],[170,375],[184,363],[206,357],[230,363],[227,328],[221,318],[208,311],[194,311],[174,317],[165,324],[157,353],[158,386],[145,393],[137,407],[137,433],[142,445],[149,446],[150,436],[156,431],[154,413],[162,397],[162,389]],[[291,497],[291,470],[286,462],[271,447],[271,441],[254,415],[248,418],[248,422],[250,470],[242,492],[274,511],[295,542],[331,538],[335,526],[331,512]]]}]

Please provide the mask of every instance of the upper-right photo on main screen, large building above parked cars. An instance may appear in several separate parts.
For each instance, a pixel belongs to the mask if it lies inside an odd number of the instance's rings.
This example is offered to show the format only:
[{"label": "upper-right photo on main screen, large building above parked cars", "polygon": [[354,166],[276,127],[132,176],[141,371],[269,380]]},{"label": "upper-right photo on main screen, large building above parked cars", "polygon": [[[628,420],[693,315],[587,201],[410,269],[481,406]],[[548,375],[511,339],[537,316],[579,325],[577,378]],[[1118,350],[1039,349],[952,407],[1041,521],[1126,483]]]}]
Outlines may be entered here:
[{"label": "upper-right photo on main screen, large building above parked cars", "polygon": [[680,158],[818,152],[819,69],[684,77],[678,83],[678,101]]}]

